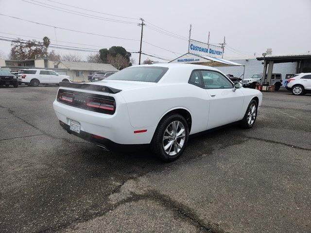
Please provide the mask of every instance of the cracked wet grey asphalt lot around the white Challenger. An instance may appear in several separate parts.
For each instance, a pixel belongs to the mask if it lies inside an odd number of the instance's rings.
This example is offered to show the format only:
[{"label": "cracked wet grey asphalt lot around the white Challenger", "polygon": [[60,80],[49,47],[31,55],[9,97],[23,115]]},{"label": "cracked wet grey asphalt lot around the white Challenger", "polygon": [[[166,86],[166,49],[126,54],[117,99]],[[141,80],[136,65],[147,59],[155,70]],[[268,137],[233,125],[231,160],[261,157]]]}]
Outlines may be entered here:
[{"label": "cracked wet grey asphalt lot around the white Challenger", "polygon": [[66,133],[58,87],[0,87],[0,232],[311,232],[311,95],[263,93],[253,129],[191,138],[177,161]]}]

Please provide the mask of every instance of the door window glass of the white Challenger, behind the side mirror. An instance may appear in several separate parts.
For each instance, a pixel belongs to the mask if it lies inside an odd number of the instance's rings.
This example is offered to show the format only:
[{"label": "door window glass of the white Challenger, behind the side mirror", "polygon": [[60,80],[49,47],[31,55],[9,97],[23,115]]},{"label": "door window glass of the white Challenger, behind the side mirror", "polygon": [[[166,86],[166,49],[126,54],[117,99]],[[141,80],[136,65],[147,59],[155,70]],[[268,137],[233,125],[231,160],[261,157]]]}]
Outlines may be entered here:
[{"label": "door window glass of the white Challenger, behind the side mirror", "polygon": [[233,84],[221,73],[201,70],[205,89],[233,88]]}]

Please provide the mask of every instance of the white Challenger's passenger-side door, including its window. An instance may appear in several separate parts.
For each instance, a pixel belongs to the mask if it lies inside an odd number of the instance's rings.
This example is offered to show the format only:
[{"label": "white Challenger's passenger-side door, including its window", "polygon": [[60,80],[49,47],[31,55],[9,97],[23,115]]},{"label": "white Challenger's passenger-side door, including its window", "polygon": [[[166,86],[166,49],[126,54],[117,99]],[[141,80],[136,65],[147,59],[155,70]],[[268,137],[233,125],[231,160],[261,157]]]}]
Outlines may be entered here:
[{"label": "white Challenger's passenger-side door, including its window", "polygon": [[242,90],[233,91],[233,83],[218,71],[201,70],[201,73],[209,96],[207,129],[240,120],[244,101]]}]

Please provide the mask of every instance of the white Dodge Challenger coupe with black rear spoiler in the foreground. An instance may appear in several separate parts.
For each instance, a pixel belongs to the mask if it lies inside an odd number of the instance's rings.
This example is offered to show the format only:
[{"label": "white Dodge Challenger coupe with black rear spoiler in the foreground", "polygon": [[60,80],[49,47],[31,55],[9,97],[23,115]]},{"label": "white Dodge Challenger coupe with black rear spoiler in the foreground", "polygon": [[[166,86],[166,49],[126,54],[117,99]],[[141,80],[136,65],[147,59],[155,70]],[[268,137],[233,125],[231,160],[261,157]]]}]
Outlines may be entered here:
[{"label": "white Dodge Challenger coupe with black rear spoiler in the foreground", "polygon": [[262,94],[232,83],[213,67],[128,67],[96,83],[60,83],[53,102],[60,125],[104,150],[150,146],[177,159],[189,135],[239,122],[253,127]]}]

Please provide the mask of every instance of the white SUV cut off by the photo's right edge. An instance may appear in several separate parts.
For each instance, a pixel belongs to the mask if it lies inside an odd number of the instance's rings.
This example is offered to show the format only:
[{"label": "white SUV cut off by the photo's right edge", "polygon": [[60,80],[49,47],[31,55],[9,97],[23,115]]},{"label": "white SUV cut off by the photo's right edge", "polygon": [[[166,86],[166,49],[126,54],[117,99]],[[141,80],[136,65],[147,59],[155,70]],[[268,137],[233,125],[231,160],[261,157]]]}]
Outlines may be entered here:
[{"label": "white SUV cut off by the photo's right edge", "polygon": [[286,89],[295,96],[301,96],[308,92],[311,93],[311,73],[296,74],[289,79]]}]

